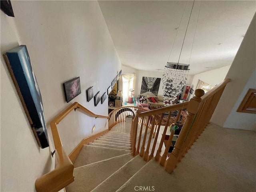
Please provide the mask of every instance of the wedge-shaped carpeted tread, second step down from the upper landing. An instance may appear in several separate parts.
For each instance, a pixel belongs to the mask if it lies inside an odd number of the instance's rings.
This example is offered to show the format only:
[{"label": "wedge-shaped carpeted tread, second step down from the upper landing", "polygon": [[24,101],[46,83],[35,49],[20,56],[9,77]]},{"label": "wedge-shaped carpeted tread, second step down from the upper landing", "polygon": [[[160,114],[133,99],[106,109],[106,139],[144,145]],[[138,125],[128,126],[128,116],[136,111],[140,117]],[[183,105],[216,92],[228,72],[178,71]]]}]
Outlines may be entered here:
[{"label": "wedge-shaped carpeted tread, second step down from the upper landing", "polygon": [[75,168],[75,181],[69,184],[66,190],[89,192],[131,159],[131,154],[124,154]]}]

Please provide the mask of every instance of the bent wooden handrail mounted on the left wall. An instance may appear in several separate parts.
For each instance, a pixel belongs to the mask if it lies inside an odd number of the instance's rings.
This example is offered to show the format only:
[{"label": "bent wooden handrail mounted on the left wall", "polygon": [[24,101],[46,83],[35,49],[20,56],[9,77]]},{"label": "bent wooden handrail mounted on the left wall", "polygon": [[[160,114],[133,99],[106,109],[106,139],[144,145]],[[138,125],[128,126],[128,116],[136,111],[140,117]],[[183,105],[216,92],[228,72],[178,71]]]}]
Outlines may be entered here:
[{"label": "bent wooden handrail mounted on the left wall", "polygon": [[55,169],[36,179],[35,187],[37,192],[58,192],[74,181],[74,166],[62,148],[62,142],[58,133],[57,124],[60,123],[72,110],[82,110],[88,116],[95,118],[109,118],[108,116],[97,115],[86,109],[78,102],[74,102],[66,110],[60,113],[50,122],[54,146],[56,149]]}]

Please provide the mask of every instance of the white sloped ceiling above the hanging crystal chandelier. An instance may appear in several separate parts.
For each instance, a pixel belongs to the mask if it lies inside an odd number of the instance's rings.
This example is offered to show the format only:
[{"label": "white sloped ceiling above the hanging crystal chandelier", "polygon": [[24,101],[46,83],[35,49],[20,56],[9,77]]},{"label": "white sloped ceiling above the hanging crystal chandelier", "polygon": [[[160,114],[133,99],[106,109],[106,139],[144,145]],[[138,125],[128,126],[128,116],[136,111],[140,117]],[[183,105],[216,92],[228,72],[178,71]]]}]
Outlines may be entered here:
[{"label": "white sloped ceiling above the hanging crystal chandelier", "polygon": [[[178,62],[193,1],[98,2],[123,65],[157,71]],[[232,64],[255,11],[256,1],[195,1],[179,62],[189,74]]]}]

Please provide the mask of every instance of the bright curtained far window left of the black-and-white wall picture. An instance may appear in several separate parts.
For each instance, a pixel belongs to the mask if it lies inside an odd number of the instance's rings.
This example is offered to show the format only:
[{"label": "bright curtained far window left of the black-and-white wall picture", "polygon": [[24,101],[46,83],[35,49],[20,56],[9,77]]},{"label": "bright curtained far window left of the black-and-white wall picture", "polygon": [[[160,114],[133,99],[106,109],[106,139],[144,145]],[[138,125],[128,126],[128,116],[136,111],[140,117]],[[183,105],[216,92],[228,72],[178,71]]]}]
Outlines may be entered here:
[{"label": "bright curtained far window left of the black-and-white wall picture", "polygon": [[135,73],[128,73],[121,75],[121,83],[120,83],[120,90],[123,91],[123,102],[128,102],[129,99],[129,89],[135,90],[135,82],[136,82],[136,74]]}]

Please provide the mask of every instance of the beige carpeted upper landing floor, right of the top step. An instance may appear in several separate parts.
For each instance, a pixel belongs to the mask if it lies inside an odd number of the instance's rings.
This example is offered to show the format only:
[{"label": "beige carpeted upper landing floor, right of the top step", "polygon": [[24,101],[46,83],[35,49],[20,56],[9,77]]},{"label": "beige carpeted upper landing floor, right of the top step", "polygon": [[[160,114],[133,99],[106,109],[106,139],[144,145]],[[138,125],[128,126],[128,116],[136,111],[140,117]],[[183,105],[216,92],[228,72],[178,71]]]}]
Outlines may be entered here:
[{"label": "beige carpeted upper landing floor, right of the top step", "polygon": [[256,191],[255,139],[255,132],[209,125],[172,174],[151,160],[118,192],[136,186],[159,192]]}]

